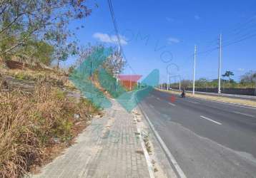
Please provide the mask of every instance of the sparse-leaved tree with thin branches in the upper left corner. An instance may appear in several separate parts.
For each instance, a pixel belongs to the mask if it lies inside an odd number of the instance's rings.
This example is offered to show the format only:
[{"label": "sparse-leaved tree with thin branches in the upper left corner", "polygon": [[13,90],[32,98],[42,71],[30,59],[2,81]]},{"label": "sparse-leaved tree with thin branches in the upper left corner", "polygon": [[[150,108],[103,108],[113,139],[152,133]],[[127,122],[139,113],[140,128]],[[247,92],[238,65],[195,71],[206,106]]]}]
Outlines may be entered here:
[{"label": "sparse-leaved tree with thin branches in the upper left corner", "polygon": [[77,50],[68,24],[89,14],[84,0],[0,0],[0,58],[9,59],[36,40],[54,46],[58,63],[64,61]]}]

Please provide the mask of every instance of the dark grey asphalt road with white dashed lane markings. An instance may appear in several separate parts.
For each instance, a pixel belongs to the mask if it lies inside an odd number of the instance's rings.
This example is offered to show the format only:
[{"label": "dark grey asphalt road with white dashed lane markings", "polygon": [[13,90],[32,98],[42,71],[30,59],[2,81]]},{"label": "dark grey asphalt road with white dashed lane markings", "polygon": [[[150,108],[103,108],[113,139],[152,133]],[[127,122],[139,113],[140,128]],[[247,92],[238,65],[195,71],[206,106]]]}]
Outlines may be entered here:
[{"label": "dark grey asphalt road with white dashed lane markings", "polygon": [[256,109],[153,90],[140,108],[187,177],[256,177]]}]

